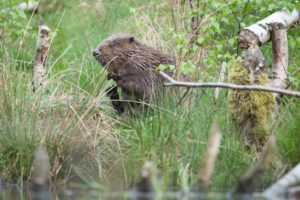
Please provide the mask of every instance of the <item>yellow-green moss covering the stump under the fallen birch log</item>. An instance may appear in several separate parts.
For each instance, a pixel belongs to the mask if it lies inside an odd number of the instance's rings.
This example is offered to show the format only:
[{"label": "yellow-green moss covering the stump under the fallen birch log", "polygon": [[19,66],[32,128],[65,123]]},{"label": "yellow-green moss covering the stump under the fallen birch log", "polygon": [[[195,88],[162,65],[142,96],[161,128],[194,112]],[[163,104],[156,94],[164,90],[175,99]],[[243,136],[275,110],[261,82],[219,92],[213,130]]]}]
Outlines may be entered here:
[{"label": "yellow-green moss covering the stump under the fallen birch log", "polygon": [[[250,78],[250,72],[243,67],[242,60],[236,59],[229,72],[229,81],[239,85],[267,85],[268,75],[260,72]],[[270,122],[275,109],[275,97],[272,93],[260,91],[229,91],[229,110],[239,134],[245,135],[247,142],[257,147],[270,134]]]}]

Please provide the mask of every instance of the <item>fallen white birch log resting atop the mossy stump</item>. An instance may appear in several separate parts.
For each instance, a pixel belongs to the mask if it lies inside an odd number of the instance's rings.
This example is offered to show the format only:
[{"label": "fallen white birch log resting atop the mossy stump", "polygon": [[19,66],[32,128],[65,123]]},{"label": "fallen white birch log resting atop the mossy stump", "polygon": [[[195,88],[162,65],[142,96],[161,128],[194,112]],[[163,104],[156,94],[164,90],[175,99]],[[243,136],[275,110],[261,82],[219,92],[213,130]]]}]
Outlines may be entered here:
[{"label": "fallen white birch log resting atop the mossy stump", "polygon": [[[272,27],[271,24],[282,24],[286,29],[299,22],[300,15],[296,9],[293,12],[282,10],[273,13],[263,20],[258,21],[251,26],[243,28],[239,35],[239,43],[242,48],[248,48],[249,45],[260,45],[268,42],[271,37]],[[256,40],[254,40],[256,38]],[[255,41],[255,43],[253,43]]]}]

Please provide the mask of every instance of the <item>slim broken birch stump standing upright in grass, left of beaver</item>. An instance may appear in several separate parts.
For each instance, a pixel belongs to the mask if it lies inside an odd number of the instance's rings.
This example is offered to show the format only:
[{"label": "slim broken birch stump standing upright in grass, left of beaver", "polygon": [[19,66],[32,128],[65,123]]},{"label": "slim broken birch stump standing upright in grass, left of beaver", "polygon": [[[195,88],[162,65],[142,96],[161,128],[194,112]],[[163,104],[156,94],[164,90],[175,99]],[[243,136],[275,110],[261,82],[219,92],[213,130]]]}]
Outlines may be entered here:
[{"label": "slim broken birch stump standing upright in grass, left of beaver", "polygon": [[33,87],[34,90],[38,88],[45,88],[45,63],[50,45],[50,28],[43,24],[39,26],[38,39],[35,49],[34,66],[33,66]]}]

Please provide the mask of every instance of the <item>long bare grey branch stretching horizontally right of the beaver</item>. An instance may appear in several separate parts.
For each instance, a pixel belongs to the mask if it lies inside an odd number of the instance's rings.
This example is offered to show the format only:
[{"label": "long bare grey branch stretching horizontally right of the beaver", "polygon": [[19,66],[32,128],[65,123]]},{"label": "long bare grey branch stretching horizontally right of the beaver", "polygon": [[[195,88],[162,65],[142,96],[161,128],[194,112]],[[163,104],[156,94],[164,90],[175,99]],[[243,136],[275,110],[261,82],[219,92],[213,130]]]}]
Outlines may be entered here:
[{"label": "long bare grey branch stretching horizontally right of the beaver", "polygon": [[278,94],[283,94],[287,96],[293,96],[300,98],[300,92],[298,91],[291,91],[291,90],[285,90],[280,88],[274,88],[270,86],[262,86],[262,85],[236,85],[232,83],[215,83],[215,82],[209,82],[209,83],[197,83],[197,82],[184,82],[184,81],[176,81],[169,75],[167,75],[164,72],[159,72],[160,75],[169,81],[169,83],[165,83],[165,86],[172,86],[172,87],[189,87],[189,88],[228,88],[228,89],[234,89],[234,90],[253,90],[253,91],[263,91],[263,92],[274,92]]}]

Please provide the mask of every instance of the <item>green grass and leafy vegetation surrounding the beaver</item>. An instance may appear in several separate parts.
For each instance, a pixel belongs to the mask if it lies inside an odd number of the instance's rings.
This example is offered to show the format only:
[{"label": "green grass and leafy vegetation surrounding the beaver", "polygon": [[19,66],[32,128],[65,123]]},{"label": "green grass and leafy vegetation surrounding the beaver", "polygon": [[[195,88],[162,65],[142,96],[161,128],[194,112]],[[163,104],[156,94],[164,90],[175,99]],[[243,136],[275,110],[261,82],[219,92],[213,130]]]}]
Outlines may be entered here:
[{"label": "green grass and leafy vegetation surrounding the beaver", "polygon": [[[43,145],[54,183],[76,174],[91,187],[98,183],[114,190],[128,188],[140,176],[143,163],[151,160],[161,170],[165,187],[181,188],[187,180],[192,186],[214,120],[223,138],[213,187],[232,187],[254,163],[255,152],[245,148],[231,122],[228,91],[221,90],[214,99],[214,89],[192,89],[177,105],[184,89],[170,88],[147,115],[120,119],[105,96],[111,83],[91,52],[112,33],[129,32],[176,55],[174,70],[196,81],[217,81],[222,63],[240,53],[239,26],[283,7],[299,6],[296,2],[210,0],[190,12],[185,1],[170,5],[160,0],[44,0],[37,14],[12,9],[18,2],[1,0],[0,6],[1,178],[28,179],[33,151]],[[189,23],[197,14],[202,19],[200,36],[190,43]],[[40,17],[52,29],[53,40],[46,64],[48,91],[34,94],[31,61]],[[294,90],[300,90],[300,73],[295,74],[299,34],[299,26],[289,31],[288,79]],[[270,64],[271,46],[263,51]],[[299,162],[299,109],[299,99],[282,98],[271,129],[278,138],[278,154],[261,187]]]}]

